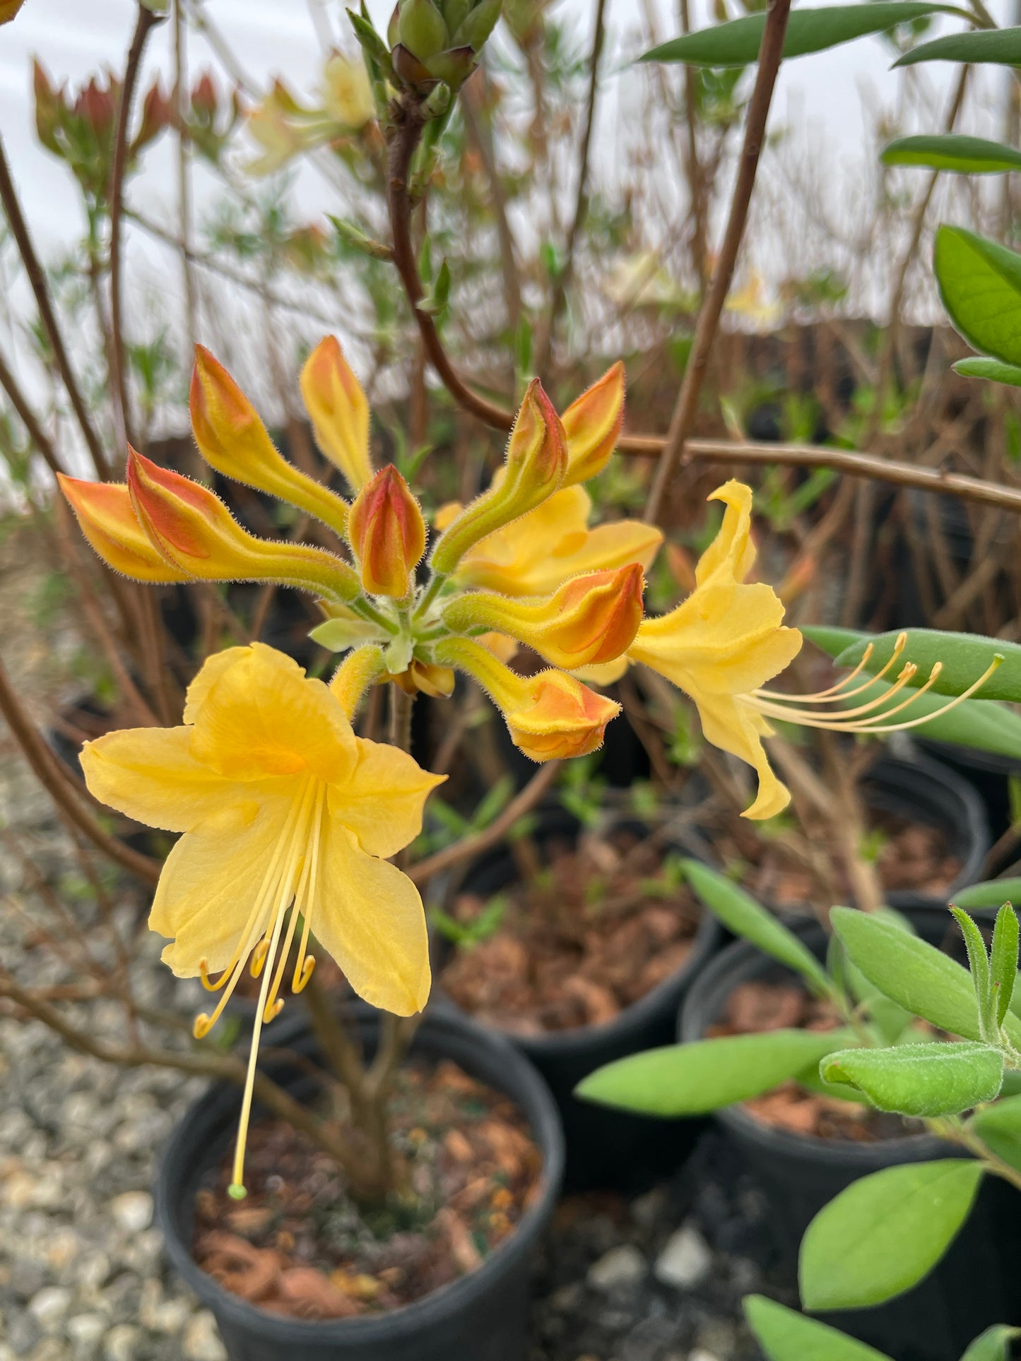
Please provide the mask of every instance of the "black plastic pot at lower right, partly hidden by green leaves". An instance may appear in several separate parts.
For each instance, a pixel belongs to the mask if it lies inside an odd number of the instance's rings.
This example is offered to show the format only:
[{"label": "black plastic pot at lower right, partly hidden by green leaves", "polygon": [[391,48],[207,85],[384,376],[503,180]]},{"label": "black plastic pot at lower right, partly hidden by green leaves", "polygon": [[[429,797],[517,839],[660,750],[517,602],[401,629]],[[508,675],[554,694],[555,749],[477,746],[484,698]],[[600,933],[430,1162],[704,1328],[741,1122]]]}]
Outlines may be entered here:
[{"label": "black plastic pot at lower right, partly hidden by green leaves", "polygon": [[[947,938],[946,911],[909,913],[931,943]],[[822,958],[826,936],[817,923],[795,930]],[[681,1038],[700,1040],[719,1019],[741,983],[781,981],[790,970],[747,942],[728,946],[692,988],[681,1017]],[[794,1275],[798,1247],[818,1211],[859,1177],[903,1162],[962,1157],[956,1145],[928,1134],[851,1143],[771,1128],[742,1106],[716,1112],[749,1170],[769,1198],[777,1248]],[[957,1361],[994,1323],[1021,1323],[1021,1195],[986,1177],[972,1213],[946,1256],[913,1289],[871,1309],[833,1311],[820,1317],[897,1361]]]}]

